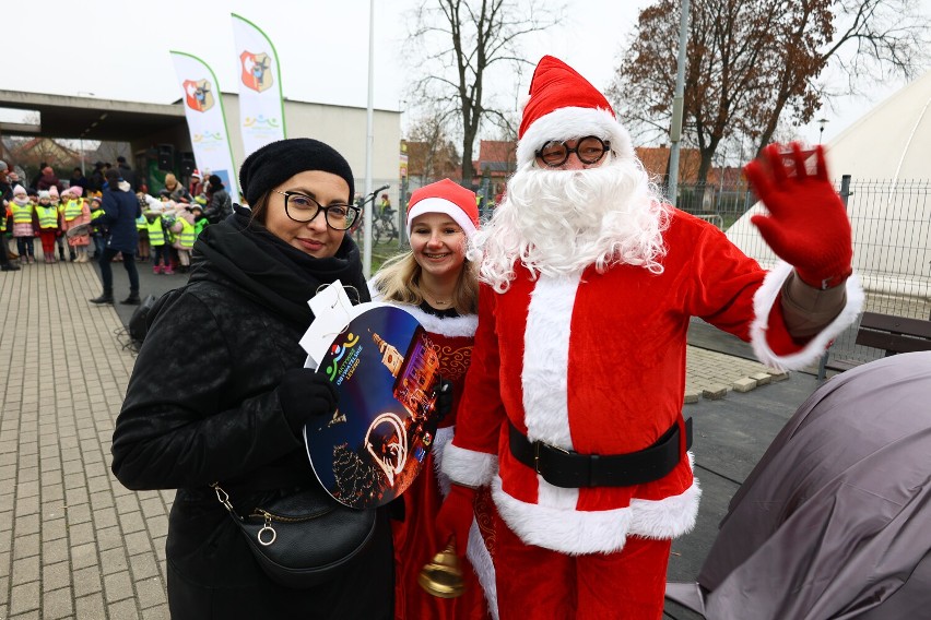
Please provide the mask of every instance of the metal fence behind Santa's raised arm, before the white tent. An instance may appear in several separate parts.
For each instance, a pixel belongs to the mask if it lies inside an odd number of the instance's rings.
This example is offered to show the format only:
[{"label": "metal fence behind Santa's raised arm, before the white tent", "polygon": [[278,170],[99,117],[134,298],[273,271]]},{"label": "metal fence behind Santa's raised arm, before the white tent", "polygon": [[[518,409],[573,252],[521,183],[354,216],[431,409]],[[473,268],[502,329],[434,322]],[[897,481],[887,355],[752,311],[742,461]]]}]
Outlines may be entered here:
[{"label": "metal fence behind Santa's raised arm, before the white tent", "polygon": [[[853,227],[853,266],[867,291],[864,310],[931,320],[931,181],[852,180],[837,184]],[[724,230],[763,266],[776,257],[749,212],[756,198],[743,187],[680,186],[679,206]],[[859,321],[841,334],[823,360],[827,368],[871,361],[884,351],[855,343]]]}]

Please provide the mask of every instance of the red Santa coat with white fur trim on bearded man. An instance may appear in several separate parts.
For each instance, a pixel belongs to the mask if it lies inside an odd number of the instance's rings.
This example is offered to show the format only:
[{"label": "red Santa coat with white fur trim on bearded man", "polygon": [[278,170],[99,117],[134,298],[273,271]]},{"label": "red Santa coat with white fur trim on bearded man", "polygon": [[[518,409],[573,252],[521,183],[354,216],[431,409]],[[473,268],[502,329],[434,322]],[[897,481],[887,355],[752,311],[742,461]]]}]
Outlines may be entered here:
[{"label": "red Santa coat with white fur trim on bearded man", "polygon": [[[663,273],[617,265],[573,276],[531,277],[515,267],[510,288],[482,287],[466,392],[444,472],[492,484],[504,521],[526,544],[578,555],[613,552],[628,535],[673,538],[695,524],[700,491],[691,458],[660,480],[629,487],[554,487],[518,462],[508,422],[530,441],[585,454],[644,450],[682,425],[691,317],[751,341],[775,367],[799,368],[859,312],[862,293],[805,346],[792,346],[778,307],[791,273],[767,273],[708,223],[675,211],[664,233]],[[779,347],[770,343],[782,343]],[[496,470],[497,469],[497,470]]]}]

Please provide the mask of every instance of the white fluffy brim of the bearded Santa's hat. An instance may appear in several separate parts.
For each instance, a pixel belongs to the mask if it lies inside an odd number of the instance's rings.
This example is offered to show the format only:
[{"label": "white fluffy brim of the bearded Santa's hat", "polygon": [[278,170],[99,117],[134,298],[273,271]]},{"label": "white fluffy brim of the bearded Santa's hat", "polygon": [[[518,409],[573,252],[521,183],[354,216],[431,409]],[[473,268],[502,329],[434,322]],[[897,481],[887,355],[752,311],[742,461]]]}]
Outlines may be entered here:
[{"label": "white fluffy brim of the bearded Santa's hat", "polygon": [[631,134],[610,110],[566,107],[543,115],[523,132],[517,143],[517,164],[533,162],[537,151],[550,140],[571,140],[597,135],[611,141],[611,151],[622,159],[634,158]]}]

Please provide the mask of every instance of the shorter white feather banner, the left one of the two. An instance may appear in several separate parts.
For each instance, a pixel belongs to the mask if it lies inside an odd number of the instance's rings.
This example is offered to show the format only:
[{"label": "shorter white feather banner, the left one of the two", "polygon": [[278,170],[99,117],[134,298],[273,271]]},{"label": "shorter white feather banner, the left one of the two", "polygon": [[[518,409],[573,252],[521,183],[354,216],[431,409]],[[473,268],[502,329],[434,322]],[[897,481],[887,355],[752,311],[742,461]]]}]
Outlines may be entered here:
[{"label": "shorter white feather banner, the left one of the two", "polygon": [[[172,51],[175,74],[184,92],[182,103],[191,134],[195,160],[202,175],[210,170],[223,180],[233,202],[239,200],[239,183],[233,150],[226,132],[226,115],[216,75],[207,63],[184,51]],[[204,178],[204,180],[207,180]]]}]

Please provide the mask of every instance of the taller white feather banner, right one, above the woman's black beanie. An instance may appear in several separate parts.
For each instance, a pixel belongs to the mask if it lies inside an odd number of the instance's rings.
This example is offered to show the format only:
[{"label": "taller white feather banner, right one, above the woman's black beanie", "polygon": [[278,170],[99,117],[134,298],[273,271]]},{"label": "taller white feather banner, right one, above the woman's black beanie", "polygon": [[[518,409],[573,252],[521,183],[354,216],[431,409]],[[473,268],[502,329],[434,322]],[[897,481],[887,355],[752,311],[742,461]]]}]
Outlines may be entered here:
[{"label": "taller white feather banner, right one, above the woman's black beanie", "polygon": [[248,157],[285,136],[281,68],[268,36],[252,22],[232,13],[239,76],[239,124]]}]

